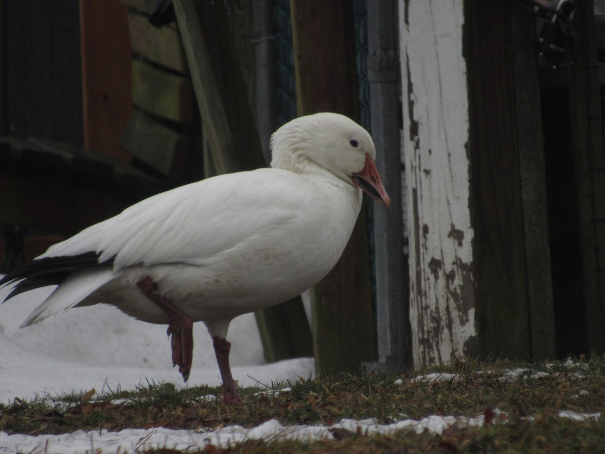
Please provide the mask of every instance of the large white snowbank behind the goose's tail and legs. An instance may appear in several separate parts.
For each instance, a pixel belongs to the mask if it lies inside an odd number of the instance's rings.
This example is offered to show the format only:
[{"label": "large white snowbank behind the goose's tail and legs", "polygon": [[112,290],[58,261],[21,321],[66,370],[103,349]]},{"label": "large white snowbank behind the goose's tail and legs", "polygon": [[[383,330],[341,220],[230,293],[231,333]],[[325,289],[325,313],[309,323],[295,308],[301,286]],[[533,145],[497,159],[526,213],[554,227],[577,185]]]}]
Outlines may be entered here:
[{"label": "large white snowbank behind the goose's tail and legs", "polygon": [[[212,340],[203,323],[194,326],[194,359],[188,384],[172,367],[166,326],[128,317],[98,304],[19,329],[51,288],[21,294],[0,304],[0,401],[56,395],[73,390],[133,389],[149,382],[177,386],[221,384]],[[0,301],[8,289],[0,290]],[[227,336],[231,364],[240,386],[309,378],[310,358],[264,364],[263,348],[252,314],[236,318]]]}]

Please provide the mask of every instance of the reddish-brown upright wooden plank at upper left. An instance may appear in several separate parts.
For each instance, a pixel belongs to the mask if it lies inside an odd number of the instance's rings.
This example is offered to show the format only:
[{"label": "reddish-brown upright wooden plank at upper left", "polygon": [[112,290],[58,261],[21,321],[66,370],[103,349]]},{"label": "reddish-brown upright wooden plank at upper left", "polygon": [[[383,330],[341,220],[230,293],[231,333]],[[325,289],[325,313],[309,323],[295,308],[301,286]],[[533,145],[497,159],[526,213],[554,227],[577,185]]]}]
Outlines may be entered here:
[{"label": "reddish-brown upright wooden plank at upper left", "polygon": [[127,11],[116,1],[80,0],[84,146],[125,162],[131,157],[119,143],[132,113]]}]

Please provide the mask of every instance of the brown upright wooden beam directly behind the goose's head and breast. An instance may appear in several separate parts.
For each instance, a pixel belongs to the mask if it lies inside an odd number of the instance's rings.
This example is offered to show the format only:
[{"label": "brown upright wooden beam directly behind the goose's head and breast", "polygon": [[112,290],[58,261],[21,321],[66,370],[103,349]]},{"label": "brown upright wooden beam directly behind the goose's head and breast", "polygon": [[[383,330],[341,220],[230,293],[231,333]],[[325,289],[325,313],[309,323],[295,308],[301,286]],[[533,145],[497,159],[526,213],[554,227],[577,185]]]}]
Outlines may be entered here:
[{"label": "brown upright wooden beam directly behind the goose's head and breast", "polygon": [[[352,2],[292,0],[298,114],[359,121]],[[313,288],[316,370],[358,372],[376,358],[365,207],[335,268]]]}]

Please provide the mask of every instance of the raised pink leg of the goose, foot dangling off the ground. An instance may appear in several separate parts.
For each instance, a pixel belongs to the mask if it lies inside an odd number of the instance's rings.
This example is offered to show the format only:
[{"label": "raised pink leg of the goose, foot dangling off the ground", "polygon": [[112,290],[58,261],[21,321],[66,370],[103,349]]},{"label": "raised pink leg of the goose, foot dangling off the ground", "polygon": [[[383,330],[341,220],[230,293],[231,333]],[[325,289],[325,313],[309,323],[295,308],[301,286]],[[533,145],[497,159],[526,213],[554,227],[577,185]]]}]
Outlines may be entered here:
[{"label": "raised pink leg of the goose, foot dangling off the ground", "polygon": [[171,301],[157,294],[157,285],[151,277],[143,277],[139,281],[139,287],[146,297],[168,314],[168,335],[172,335],[172,365],[178,364],[178,372],[187,381],[193,359],[193,321]]}]

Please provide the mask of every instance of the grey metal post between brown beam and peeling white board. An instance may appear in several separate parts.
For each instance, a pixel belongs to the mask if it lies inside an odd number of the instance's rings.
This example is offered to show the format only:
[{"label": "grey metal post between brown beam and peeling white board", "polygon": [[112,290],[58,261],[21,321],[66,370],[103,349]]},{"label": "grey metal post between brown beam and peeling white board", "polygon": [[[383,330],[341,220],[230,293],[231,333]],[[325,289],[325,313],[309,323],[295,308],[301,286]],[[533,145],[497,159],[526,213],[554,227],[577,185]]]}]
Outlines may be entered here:
[{"label": "grey metal post between brown beam and peeling white board", "polygon": [[397,1],[368,0],[368,85],[376,166],[391,197],[391,209],[375,206],[376,328],[379,367],[412,364],[409,275],[404,257],[399,131]]}]

